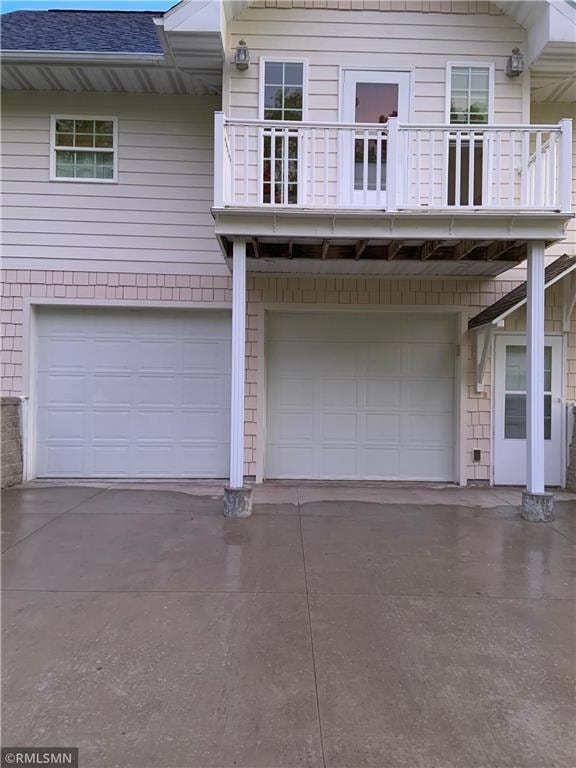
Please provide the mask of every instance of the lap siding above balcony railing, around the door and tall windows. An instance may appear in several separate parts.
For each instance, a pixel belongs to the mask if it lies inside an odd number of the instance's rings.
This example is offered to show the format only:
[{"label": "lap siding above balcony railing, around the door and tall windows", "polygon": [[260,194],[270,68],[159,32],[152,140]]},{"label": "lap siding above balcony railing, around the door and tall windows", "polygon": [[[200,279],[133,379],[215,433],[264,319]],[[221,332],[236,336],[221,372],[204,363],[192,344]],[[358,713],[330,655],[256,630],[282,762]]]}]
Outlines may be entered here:
[{"label": "lap siding above balcony railing, around the door and tall windows", "polygon": [[[484,8],[487,4],[468,3],[466,7],[473,5]],[[522,79],[506,77],[505,67],[511,49],[525,47],[525,32],[506,15],[259,4],[244,10],[230,33],[233,47],[240,39],[246,40],[253,61],[246,72],[231,68],[229,82],[225,78],[226,109],[235,117],[257,117],[259,58],[285,55],[309,60],[310,120],[338,120],[341,67],[413,67],[411,119],[441,123],[445,119],[446,63],[458,59],[494,63],[495,121],[519,123],[524,119]]]}]

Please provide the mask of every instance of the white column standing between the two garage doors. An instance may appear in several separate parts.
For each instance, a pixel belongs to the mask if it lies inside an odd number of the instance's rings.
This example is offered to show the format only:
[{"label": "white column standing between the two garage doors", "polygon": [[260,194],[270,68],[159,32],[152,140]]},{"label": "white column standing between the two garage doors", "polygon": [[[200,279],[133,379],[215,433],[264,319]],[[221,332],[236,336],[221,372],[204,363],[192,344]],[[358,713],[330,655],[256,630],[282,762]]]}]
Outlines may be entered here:
[{"label": "white column standing between the two garage doors", "polygon": [[246,240],[232,244],[232,392],[230,488],[244,483],[244,366],[246,354]]}]

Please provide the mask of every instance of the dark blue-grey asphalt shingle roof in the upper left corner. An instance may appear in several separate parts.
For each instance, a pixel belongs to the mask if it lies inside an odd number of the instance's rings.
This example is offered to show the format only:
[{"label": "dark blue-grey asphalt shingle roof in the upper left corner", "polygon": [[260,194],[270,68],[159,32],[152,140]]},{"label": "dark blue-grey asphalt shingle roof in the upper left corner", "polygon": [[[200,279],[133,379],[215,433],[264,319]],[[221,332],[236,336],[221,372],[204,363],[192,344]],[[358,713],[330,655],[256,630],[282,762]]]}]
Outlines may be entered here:
[{"label": "dark blue-grey asphalt shingle roof in the upper left corner", "polygon": [[161,12],[14,11],[0,17],[3,51],[162,53]]}]

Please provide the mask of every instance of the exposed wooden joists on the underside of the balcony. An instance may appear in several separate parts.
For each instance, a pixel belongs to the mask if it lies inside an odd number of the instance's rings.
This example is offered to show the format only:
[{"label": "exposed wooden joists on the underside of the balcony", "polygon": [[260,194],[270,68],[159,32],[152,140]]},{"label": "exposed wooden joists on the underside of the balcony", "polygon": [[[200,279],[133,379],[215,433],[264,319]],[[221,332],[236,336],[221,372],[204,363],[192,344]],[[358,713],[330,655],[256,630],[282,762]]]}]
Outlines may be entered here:
[{"label": "exposed wooden joists on the underside of the balcony", "polygon": [[[221,238],[230,266],[232,243]],[[516,240],[274,240],[247,241],[252,272],[365,275],[498,275],[524,261]]]}]

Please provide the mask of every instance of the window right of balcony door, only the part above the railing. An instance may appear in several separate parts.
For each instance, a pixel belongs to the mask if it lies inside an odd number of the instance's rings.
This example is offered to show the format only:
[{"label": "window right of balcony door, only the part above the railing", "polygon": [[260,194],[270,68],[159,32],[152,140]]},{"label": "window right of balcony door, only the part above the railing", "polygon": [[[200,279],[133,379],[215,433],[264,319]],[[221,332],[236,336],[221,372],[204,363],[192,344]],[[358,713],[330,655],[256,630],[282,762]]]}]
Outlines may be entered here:
[{"label": "window right of balcony door, only the part above the railing", "polygon": [[448,65],[448,120],[454,124],[492,120],[494,69],[490,65]]}]

